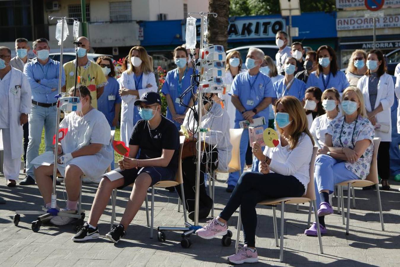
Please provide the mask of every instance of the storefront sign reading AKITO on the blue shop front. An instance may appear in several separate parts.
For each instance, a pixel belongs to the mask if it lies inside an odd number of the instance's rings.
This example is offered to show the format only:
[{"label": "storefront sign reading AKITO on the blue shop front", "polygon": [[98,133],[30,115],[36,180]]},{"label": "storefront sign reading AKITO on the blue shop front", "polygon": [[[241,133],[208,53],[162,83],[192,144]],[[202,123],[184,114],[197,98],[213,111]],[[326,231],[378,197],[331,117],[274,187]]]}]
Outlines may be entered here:
[{"label": "storefront sign reading AKITO on the blue shop front", "polygon": [[[275,38],[276,33],[286,28],[282,18],[259,20],[236,20],[228,26],[228,40],[244,38]],[[186,24],[182,25],[182,40],[185,40]],[[200,40],[200,21],[196,23],[196,36]]]}]

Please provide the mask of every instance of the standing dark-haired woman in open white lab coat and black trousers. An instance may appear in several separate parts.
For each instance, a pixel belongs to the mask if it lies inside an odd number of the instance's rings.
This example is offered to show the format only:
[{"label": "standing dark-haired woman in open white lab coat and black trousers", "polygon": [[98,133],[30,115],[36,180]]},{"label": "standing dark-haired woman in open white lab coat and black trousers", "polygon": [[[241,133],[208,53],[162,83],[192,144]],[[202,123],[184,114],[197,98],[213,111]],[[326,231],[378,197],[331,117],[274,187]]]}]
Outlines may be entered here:
[{"label": "standing dark-haired woman in open white lab coat and black trousers", "polygon": [[390,190],[389,149],[392,142],[392,116],[390,108],[394,102],[392,76],[386,73],[386,64],[380,50],[368,52],[366,74],[358,80],[357,87],[364,96],[367,116],[375,128],[375,137],[381,141],[378,149],[378,175],[382,190]]}]

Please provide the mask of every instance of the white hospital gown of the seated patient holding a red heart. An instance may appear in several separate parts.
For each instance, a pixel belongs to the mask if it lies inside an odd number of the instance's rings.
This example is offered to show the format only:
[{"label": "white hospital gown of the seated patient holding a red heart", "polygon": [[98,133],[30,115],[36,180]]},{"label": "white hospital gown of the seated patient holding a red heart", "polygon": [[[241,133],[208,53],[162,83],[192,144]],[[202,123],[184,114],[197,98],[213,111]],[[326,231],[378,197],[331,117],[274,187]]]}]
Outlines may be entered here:
[{"label": "white hospital gown of the seated patient holding a red heart", "polygon": [[[57,169],[60,174],[65,175],[66,165],[76,165],[90,181],[100,183],[102,175],[114,157],[110,140],[111,128],[104,114],[95,108],[83,117],[78,116],[76,112],[71,112],[60,122],[61,128],[68,128],[64,139],[60,142],[64,154],[72,153],[90,144],[102,144],[102,148],[94,155],[76,157],[66,164],[58,164]],[[45,153],[39,155],[34,161],[38,161],[40,157],[46,157]],[[38,168],[40,165],[34,166]]]}]

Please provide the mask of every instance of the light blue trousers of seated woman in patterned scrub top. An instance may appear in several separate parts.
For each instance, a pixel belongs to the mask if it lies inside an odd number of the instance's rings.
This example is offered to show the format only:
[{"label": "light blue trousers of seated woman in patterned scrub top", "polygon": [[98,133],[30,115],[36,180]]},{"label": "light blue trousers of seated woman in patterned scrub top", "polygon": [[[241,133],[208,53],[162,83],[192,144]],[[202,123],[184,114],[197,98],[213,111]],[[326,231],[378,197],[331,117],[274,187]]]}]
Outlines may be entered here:
[{"label": "light blue trousers of seated woman in patterned scrub top", "polygon": [[344,161],[334,159],[328,155],[317,156],[314,170],[317,209],[319,209],[321,203],[320,191],[329,190],[329,194],[331,194],[333,193],[335,184],[346,180],[360,179],[352,171],[349,171],[346,166],[344,166],[344,163]]}]

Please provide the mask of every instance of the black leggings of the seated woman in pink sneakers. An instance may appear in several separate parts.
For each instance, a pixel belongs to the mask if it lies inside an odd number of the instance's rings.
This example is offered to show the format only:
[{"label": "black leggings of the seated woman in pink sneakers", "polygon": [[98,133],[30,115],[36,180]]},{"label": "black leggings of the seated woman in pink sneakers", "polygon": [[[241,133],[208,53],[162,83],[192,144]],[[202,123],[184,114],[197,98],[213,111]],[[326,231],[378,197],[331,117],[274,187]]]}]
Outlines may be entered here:
[{"label": "black leggings of the seated woman in pink sneakers", "polygon": [[240,215],[242,217],[244,243],[249,247],[255,247],[257,203],[268,198],[301,197],[304,192],[304,185],[292,175],[247,172],[239,178],[228,204],[220,213],[220,217],[228,221],[236,209],[241,206]]}]

